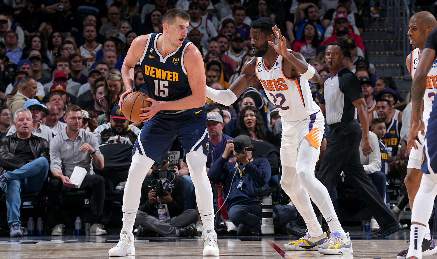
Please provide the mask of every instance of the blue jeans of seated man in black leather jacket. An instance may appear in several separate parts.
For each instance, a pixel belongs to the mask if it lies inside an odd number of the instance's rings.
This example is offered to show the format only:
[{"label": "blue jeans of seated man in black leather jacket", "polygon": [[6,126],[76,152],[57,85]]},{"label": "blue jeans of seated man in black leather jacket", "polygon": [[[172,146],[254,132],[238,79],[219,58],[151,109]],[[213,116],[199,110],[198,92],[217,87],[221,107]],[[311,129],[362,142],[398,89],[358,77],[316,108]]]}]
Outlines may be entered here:
[{"label": "blue jeans of seated man in black leather jacket", "polygon": [[49,162],[45,157],[38,157],[21,168],[7,171],[4,176],[7,184],[3,184],[2,191],[6,193],[7,222],[10,225],[20,221],[21,192],[35,192],[41,190],[45,177],[49,172]]}]

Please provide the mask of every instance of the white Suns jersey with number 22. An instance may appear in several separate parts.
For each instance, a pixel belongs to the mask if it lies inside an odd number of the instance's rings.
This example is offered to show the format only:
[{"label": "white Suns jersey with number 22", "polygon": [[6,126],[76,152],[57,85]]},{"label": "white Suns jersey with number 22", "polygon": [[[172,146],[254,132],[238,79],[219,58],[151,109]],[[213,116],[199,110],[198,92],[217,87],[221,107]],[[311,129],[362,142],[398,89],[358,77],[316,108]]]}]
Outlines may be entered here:
[{"label": "white Suns jersey with number 22", "polygon": [[282,56],[277,55],[273,66],[268,70],[263,58],[257,57],[254,68],[267,98],[279,110],[279,116],[285,121],[294,122],[318,112],[320,108],[312,100],[308,80],[302,76],[299,78],[285,76],[282,62]]}]

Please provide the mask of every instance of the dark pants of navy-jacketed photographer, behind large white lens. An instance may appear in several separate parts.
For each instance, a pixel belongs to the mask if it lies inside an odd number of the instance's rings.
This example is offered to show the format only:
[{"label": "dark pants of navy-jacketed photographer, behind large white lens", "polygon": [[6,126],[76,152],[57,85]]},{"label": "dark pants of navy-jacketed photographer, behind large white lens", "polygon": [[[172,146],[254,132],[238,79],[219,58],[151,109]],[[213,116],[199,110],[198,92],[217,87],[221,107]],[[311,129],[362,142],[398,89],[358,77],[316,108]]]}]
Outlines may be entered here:
[{"label": "dark pants of navy-jacketed photographer, behind large white lens", "polygon": [[[238,228],[240,224],[255,227],[261,224],[263,210],[258,201],[247,204],[234,205],[229,208],[229,220]],[[297,210],[289,205],[273,206],[273,225],[275,229],[281,229],[288,222],[296,218]]]}]

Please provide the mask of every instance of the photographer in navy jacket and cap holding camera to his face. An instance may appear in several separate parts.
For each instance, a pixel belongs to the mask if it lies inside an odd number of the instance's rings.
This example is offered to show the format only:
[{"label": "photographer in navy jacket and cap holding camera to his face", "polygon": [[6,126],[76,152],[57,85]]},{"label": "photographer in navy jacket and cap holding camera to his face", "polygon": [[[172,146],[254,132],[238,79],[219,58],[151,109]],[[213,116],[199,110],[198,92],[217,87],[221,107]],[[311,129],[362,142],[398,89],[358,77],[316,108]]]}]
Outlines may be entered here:
[{"label": "photographer in navy jacket and cap holding camera to his face", "polygon": [[[223,183],[223,198],[229,220],[238,226],[238,235],[259,235],[261,232],[262,209],[256,194],[257,189],[268,189],[271,168],[267,158],[252,158],[249,136],[239,135],[228,140],[225,151],[208,171],[209,180]],[[228,163],[227,157],[233,152],[236,162]],[[275,229],[296,218],[296,208],[288,205],[273,206]]]}]

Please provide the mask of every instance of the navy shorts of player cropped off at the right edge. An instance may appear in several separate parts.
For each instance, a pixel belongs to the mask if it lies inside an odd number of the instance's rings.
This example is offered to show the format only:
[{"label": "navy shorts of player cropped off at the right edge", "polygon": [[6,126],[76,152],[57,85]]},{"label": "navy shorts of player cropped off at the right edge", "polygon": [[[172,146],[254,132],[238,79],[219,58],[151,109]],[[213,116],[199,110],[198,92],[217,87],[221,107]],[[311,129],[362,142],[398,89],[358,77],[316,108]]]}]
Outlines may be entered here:
[{"label": "navy shorts of player cropped off at the right edge", "polygon": [[425,174],[437,174],[437,112],[434,110],[433,106],[423,144],[421,171]]}]

